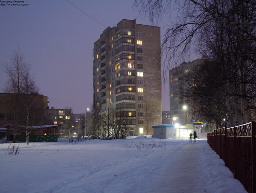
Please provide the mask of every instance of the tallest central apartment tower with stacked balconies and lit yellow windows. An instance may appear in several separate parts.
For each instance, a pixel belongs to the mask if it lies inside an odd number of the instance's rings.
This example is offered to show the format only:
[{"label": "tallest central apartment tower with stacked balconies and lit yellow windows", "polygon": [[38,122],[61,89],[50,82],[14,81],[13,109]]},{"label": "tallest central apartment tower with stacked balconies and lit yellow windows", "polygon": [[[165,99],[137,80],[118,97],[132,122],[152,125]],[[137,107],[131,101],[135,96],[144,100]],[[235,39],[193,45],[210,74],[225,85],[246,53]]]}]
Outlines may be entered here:
[{"label": "tallest central apartment tower with stacked balconies and lit yellow windows", "polygon": [[[132,117],[128,134],[153,134],[162,123],[160,27],[122,20],[94,43],[93,100]],[[157,61],[158,60],[158,61]],[[158,66],[156,66],[156,61]],[[153,117],[146,122],[146,115]],[[100,133],[99,135],[104,135]]]}]

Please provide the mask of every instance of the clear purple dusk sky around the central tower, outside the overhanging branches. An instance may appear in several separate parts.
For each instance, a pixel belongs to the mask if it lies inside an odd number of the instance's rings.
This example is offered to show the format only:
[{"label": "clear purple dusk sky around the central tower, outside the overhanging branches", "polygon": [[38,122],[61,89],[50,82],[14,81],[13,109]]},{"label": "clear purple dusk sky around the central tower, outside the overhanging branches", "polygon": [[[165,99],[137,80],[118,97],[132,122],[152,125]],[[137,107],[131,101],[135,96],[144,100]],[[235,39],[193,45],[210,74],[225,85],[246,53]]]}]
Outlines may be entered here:
[{"label": "clear purple dusk sky around the central tower, outside the overhanging branches", "polygon": [[[84,113],[93,103],[93,43],[100,34],[122,19],[151,25],[147,17],[142,18],[132,8],[133,0],[24,3],[29,5],[0,6],[0,88],[6,81],[3,64],[19,46],[30,60],[40,94],[48,96],[50,107],[72,107],[75,114]],[[161,35],[168,24],[169,14],[165,14],[158,25]],[[168,83],[162,98],[163,110],[169,110]]]}]

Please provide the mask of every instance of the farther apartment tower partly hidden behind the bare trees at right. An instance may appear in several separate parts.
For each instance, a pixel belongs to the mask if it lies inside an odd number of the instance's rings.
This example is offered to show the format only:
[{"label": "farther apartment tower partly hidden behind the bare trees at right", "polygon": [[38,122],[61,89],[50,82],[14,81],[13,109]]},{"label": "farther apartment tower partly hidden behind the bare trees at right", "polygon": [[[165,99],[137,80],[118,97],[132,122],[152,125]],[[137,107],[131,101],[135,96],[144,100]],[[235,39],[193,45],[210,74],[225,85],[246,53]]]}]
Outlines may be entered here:
[{"label": "farther apartment tower partly hidden behind the bare trees at right", "polygon": [[183,62],[180,66],[177,66],[169,70],[170,75],[170,117],[172,123],[188,124],[190,122],[196,122],[192,120],[191,111],[189,104],[185,104],[180,99],[179,88],[186,88],[189,85],[183,83],[180,78],[187,72],[194,69],[194,66],[200,62],[200,59],[193,60],[192,62]]}]

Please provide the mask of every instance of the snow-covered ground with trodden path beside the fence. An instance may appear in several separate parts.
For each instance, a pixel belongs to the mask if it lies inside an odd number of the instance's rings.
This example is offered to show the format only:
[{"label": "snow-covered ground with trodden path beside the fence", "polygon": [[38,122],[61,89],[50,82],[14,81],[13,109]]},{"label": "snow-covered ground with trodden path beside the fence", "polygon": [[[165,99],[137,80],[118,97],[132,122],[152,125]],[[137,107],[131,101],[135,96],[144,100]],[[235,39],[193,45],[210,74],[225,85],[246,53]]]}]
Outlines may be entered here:
[{"label": "snow-covered ground with trodden path beside the fence", "polygon": [[207,140],[21,143],[13,154],[12,147],[0,144],[1,193],[247,192]]}]

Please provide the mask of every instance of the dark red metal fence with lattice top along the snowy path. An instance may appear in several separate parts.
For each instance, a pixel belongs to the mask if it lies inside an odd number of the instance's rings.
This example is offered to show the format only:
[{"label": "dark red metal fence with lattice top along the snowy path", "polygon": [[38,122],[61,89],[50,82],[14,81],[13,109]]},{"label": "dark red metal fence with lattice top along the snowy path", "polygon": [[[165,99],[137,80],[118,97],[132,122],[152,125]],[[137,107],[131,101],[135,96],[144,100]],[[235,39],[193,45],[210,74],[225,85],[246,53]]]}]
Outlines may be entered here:
[{"label": "dark red metal fence with lattice top along the snowy path", "polygon": [[214,130],[207,142],[245,190],[256,193],[256,122]]}]

